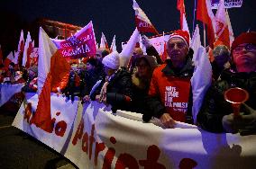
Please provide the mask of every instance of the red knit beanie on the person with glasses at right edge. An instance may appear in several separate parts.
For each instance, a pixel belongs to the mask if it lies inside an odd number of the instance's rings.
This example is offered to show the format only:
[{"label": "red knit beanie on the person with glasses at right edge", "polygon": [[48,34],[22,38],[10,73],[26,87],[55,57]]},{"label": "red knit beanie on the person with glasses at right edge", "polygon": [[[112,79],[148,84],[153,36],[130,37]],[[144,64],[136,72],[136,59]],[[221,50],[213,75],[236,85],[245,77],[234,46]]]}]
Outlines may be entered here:
[{"label": "red knit beanie on the person with glasses at right edge", "polygon": [[252,43],[256,45],[256,31],[243,32],[236,39],[233,40],[231,50],[235,49],[242,43]]}]

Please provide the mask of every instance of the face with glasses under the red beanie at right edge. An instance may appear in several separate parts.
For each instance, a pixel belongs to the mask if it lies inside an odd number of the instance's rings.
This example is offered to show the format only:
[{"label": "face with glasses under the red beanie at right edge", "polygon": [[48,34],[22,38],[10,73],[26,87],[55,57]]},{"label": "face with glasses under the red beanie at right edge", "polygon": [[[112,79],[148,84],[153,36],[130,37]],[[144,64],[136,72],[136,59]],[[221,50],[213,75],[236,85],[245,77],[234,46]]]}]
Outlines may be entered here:
[{"label": "face with glasses under the red beanie at right edge", "polygon": [[238,72],[256,71],[256,45],[242,43],[233,49],[233,62]]}]

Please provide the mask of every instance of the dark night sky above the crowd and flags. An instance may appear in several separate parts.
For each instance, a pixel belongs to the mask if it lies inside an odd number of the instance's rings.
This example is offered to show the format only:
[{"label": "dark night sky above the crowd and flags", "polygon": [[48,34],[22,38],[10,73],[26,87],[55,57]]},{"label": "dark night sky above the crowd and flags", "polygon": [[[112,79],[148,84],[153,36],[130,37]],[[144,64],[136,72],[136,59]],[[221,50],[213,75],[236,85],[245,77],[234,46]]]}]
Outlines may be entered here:
[{"label": "dark night sky above the crowd and flags", "polygon": [[[185,0],[190,33],[193,29],[194,2],[194,0]],[[137,0],[137,3],[159,32],[174,31],[179,28],[177,0]],[[100,41],[103,31],[110,45],[115,34],[119,50],[121,41],[128,40],[135,29],[133,0],[5,0],[1,2],[0,13],[0,43],[4,43],[6,49],[12,49],[5,44],[7,39],[13,38],[18,43],[20,30],[26,31],[26,28],[21,27],[11,29],[12,26],[17,25],[16,22],[32,22],[39,17],[81,27],[92,20],[96,40]],[[248,29],[256,31],[255,0],[243,0],[242,7],[229,9],[229,14],[235,36]]]}]

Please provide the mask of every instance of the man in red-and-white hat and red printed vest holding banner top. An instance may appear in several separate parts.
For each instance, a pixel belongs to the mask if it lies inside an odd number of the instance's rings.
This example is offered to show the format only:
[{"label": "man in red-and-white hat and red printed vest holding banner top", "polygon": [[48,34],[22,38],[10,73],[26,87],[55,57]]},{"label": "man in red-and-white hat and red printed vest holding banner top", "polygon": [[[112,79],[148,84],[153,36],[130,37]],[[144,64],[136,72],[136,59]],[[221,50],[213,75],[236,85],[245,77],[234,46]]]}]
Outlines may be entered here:
[{"label": "man in red-and-white hat and red printed vest holding banner top", "polygon": [[193,50],[189,49],[187,31],[174,31],[169,36],[167,51],[170,59],[157,67],[151,78],[147,104],[151,111],[143,120],[159,118],[166,128],[174,128],[175,121],[191,122],[192,94],[190,78],[193,75]]}]

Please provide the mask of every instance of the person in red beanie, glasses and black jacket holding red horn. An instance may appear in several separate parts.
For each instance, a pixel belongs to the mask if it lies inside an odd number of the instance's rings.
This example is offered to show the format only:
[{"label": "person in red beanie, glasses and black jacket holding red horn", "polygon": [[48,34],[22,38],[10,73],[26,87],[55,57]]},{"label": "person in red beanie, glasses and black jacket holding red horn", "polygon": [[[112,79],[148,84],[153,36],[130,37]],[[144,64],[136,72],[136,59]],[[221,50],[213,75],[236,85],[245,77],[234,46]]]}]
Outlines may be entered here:
[{"label": "person in red beanie, glasses and black jacket holding red horn", "polygon": [[[206,93],[197,122],[202,129],[211,132],[255,134],[256,31],[242,33],[233,41],[231,58],[232,67],[224,70]],[[240,87],[249,93],[249,99],[242,104],[237,115],[233,113],[232,103],[224,99],[224,92],[233,87]]]}]

